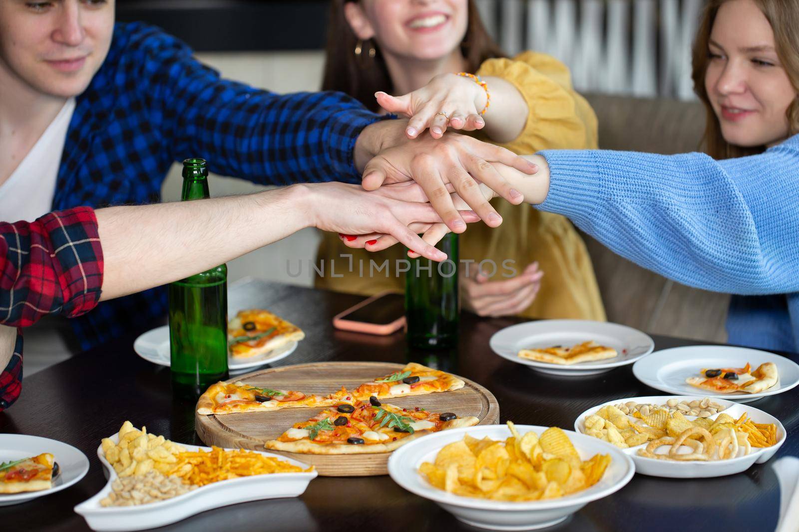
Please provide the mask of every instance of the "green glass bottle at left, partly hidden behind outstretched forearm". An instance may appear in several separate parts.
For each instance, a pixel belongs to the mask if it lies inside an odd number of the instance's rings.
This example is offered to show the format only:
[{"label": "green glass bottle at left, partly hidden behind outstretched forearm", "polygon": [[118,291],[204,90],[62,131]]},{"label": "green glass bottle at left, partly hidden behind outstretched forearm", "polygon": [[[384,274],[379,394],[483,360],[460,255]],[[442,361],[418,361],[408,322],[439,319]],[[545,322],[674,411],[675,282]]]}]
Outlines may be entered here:
[{"label": "green glass bottle at left, partly hidden behind outstretched forearm", "polygon": [[[183,161],[181,201],[209,197],[205,160]],[[169,285],[169,351],[173,384],[183,390],[205,392],[228,378],[228,266]]]}]

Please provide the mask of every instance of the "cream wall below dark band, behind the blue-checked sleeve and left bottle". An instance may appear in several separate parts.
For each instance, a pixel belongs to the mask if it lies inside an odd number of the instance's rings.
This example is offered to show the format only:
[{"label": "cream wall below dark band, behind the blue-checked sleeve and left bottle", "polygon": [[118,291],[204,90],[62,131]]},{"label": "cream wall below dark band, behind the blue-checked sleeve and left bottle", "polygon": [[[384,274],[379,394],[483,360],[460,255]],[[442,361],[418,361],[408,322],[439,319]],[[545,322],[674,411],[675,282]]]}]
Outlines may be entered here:
[{"label": "cream wall below dark band, behind the blue-checked sleeve and left bottle", "polygon": [[[197,57],[207,65],[219,70],[223,76],[244,81],[249,85],[269,89],[276,93],[292,93],[305,90],[319,90],[322,83],[324,53],[281,52],[281,53],[199,53]],[[193,154],[186,154],[187,157]],[[169,171],[161,191],[164,201],[181,199],[181,165],[174,164]],[[209,179],[211,195],[247,194],[264,190],[267,187],[254,185],[244,179],[234,179],[212,175]],[[300,277],[289,277],[286,273],[286,260],[296,259],[303,264],[316,258],[316,247],[320,232],[305,229],[280,242],[265,246],[243,257],[228,262],[229,282],[243,277],[262,278],[270,281],[288,282],[311,286],[312,277],[304,268]],[[295,266],[296,268],[296,266]]]}]

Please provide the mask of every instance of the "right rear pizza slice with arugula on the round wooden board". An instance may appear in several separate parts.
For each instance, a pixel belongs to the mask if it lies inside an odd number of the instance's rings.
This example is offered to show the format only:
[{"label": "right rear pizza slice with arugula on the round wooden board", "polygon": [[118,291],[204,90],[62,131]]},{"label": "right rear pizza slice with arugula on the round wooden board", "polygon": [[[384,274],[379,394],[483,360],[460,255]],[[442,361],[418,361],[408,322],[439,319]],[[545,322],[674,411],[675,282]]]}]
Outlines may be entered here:
[{"label": "right rear pizza slice with arugula on the round wooden board", "polygon": [[463,380],[447,372],[411,362],[398,372],[376,377],[375,380],[361,384],[352,392],[342,387],[328,397],[335,400],[346,400],[346,396],[352,396],[353,400],[360,401],[368,400],[372,396],[377,399],[389,399],[435,392],[451,392],[463,388],[464,385],[466,383]]}]

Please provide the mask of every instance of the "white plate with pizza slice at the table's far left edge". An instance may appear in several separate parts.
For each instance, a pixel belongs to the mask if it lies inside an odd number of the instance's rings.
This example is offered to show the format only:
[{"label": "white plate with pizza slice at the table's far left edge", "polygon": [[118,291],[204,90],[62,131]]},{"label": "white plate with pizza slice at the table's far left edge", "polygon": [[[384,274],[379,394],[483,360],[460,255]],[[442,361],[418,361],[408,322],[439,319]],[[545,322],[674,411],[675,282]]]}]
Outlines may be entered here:
[{"label": "white plate with pizza slice at the table's far left edge", "polygon": [[89,471],[89,459],[55,439],[0,434],[0,506],[62,491]]}]

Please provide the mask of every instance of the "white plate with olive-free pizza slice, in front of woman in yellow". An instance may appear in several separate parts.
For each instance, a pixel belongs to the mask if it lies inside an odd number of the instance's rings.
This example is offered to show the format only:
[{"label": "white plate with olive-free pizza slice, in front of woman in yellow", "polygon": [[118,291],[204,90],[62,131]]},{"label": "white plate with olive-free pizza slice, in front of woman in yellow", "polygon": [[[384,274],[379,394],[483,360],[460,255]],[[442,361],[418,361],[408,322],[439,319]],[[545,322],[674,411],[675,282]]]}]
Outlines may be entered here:
[{"label": "white plate with olive-free pizza slice, in front of woman in yellow", "polygon": [[500,357],[553,375],[581,376],[633,364],[654,341],[637,329],[607,321],[539,320],[511,325],[489,341]]}]

